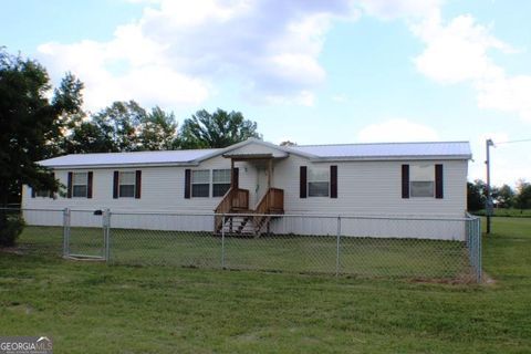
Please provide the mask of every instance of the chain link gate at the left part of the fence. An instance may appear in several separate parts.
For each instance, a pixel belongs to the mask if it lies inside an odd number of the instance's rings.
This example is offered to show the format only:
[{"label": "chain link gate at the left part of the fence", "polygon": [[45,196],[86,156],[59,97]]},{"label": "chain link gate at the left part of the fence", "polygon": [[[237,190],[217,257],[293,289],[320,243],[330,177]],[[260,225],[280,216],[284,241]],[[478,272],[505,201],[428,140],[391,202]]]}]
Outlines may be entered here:
[{"label": "chain link gate at the left part of the fence", "polygon": [[63,256],[74,259],[108,260],[111,212],[63,210]]}]

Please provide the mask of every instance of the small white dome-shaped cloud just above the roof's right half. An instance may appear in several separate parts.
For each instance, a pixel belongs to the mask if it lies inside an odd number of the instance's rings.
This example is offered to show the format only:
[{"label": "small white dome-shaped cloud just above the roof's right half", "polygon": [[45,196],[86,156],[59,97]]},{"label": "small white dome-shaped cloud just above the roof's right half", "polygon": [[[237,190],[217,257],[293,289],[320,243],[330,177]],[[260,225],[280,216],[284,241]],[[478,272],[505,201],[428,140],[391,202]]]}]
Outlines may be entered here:
[{"label": "small white dome-shaped cloud just above the roof's right half", "polygon": [[404,118],[371,124],[357,134],[357,140],[361,143],[435,142],[438,139],[439,136],[434,128]]}]

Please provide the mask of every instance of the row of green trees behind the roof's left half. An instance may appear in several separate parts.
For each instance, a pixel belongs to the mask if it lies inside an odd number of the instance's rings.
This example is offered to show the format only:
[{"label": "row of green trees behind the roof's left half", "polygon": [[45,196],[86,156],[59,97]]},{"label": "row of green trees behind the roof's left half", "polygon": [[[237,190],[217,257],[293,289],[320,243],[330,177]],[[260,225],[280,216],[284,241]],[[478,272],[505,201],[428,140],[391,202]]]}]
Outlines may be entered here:
[{"label": "row of green trees behind the roof's left half", "polygon": [[226,147],[260,138],[257,123],[240,112],[198,111],[178,129],[174,113],[146,111],[135,101],[114,102],[96,114],[71,115],[54,155]]}]

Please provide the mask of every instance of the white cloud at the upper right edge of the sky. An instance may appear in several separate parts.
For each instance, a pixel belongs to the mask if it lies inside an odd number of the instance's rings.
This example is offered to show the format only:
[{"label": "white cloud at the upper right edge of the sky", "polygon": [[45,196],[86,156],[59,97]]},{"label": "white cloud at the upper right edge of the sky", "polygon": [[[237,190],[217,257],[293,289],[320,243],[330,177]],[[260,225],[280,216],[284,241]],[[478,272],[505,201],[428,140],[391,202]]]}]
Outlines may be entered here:
[{"label": "white cloud at the upper right edge of the sky", "polygon": [[517,51],[491,34],[471,15],[459,15],[444,24],[438,12],[412,24],[426,48],[414,59],[417,70],[442,84],[470,83],[478,106],[514,113],[531,122],[531,75],[510,76],[494,63],[490,51]]}]

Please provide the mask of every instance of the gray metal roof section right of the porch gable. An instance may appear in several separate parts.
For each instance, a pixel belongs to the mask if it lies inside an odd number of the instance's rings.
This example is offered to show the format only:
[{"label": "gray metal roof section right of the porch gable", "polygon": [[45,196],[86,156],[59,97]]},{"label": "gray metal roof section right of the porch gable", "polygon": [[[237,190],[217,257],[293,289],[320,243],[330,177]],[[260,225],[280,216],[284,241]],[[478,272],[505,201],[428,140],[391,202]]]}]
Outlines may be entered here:
[{"label": "gray metal roof section right of the porch gable", "polygon": [[471,158],[468,142],[301,145],[290,148],[321,158],[455,157]]}]

